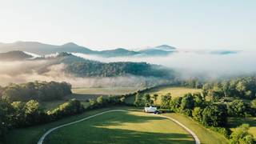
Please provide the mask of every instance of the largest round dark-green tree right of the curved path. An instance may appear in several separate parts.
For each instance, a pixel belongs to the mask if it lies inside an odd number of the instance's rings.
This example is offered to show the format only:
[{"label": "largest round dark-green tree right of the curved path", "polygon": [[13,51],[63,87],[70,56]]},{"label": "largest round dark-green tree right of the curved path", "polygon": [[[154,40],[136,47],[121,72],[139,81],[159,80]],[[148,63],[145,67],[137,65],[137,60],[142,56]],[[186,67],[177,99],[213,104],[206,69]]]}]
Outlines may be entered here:
[{"label": "largest round dark-green tree right of the curved path", "polygon": [[206,106],[202,111],[202,124],[205,126],[225,126],[226,111],[220,106]]}]

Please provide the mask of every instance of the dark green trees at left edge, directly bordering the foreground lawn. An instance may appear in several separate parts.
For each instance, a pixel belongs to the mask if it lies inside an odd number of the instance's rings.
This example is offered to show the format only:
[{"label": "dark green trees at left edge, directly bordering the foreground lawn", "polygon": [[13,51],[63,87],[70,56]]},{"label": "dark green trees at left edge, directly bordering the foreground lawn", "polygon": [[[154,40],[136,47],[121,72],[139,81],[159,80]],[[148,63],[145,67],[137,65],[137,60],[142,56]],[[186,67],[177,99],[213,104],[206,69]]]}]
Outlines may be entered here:
[{"label": "dark green trees at left edge, directly bordering the foreground lawn", "polygon": [[28,102],[8,102],[0,100],[0,140],[7,130],[15,127],[33,126],[58,120],[67,115],[79,114],[84,107],[78,100],[72,99],[54,110],[46,110],[35,100]]}]

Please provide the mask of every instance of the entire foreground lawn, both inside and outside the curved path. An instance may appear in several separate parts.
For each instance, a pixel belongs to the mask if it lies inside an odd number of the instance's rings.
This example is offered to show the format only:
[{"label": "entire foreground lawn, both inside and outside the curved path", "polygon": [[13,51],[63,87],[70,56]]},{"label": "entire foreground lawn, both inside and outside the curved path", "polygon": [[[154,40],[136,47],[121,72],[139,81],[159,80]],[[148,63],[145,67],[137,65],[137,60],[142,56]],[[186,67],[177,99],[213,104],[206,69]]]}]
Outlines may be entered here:
[{"label": "entire foreground lawn, both inside and outside the curved path", "polygon": [[[133,107],[109,107],[99,110],[86,111],[83,114],[74,115],[69,118],[61,119],[57,122],[50,122],[40,126],[31,126],[23,129],[11,130],[6,136],[6,143],[16,144],[32,144],[38,142],[38,139],[50,128],[59,126],[68,122],[74,122],[75,120],[86,118],[90,115],[98,114],[105,110],[122,109],[130,110],[131,112],[122,113],[117,112],[113,114],[101,115],[92,119],[88,119],[84,122],[74,124],[74,126],[68,126],[57,130],[53,134],[46,137],[46,143],[58,143],[58,138],[65,134],[65,137],[61,138],[59,142],[69,142],[71,135],[81,140],[80,143],[86,143],[84,138],[89,138],[91,142],[114,142],[113,139],[117,139],[118,142],[138,143],[134,139],[141,138],[148,143],[175,143],[178,140],[182,143],[194,143],[194,139],[186,133],[181,127],[174,122],[165,118],[152,117],[144,113],[138,112]],[[182,114],[165,114],[171,118],[177,119],[185,126],[193,130],[202,143],[228,143],[226,138],[213,131],[206,130],[203,126],[197,122],[192,121],[190,118],[183,116]],[[77,129],[78,128],[78,129]],[[111,135],[109,135],[109,133]],[[67,134],[67,135],[66,135]],[[70,134],[70,135],[69,135]],[[107,135],[110,138],[107,138]],[[129,139],[128,139],[129,138]],[[106,139],[106,140],[105,140]],[[123,140],[121,140],[123,139]],[[53,141],[52,141],[53,140]],[[120,140],[120,141],[119,141]],[[129,141],[128,141],[129,140]],[[74,140],[78,142],[77,140]],[[76,143],[72,142],[72,143]],[[90,143],[91,143],[90,142]],[[180,143],[177,142],[177,143]],[[79,143],[79,142],[78,142]]]}]

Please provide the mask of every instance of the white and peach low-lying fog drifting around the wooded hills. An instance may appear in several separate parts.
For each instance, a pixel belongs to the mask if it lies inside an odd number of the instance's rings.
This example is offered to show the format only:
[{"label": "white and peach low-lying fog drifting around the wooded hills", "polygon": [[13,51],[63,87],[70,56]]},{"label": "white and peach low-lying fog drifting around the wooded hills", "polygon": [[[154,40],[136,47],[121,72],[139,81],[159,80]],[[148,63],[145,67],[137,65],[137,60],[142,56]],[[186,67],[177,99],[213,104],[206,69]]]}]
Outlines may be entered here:
[{"label": "white and peach low-lying fog drifting around the wooded hills", "polygon": [[[101,62],[149,62],[170,67],[180,74],[180,78],[218,78],[220,76],[235,76],[239,74],[254,74],[256,72],[255,50],[239,51],[237,54],[209,54],[203,52],[178,52],[163,57],[122,57],[102,58],[86,54],[76,56]],[[23,61],[0,62],[0,85],[10,82],[66,81],[73,86],[143,86],[148,83],[163,83],[158,78],[143,78],[135,76],[116,78],[75,78],[64,74],[64,64],[47,66],[49,62]],[[46,71],[40,71],[46,66]],[[38,73],[39,71],[39,73]]]}]

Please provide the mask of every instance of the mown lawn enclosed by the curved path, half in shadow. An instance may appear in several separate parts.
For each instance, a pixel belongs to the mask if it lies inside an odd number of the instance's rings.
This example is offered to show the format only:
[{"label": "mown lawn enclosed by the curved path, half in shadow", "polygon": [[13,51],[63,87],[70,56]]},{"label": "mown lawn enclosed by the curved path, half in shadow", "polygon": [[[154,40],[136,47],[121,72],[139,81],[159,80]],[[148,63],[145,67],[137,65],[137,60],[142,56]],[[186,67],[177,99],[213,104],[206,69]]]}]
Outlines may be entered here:
[{"label": "mown lawn enclosed by the curved path, half in shadow", "polygon": [[138,111],[111,112],[63,127],[46,143],[194,143],[190,134],[166,118]]}]

